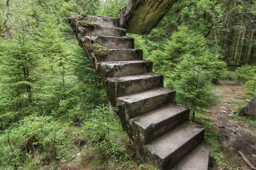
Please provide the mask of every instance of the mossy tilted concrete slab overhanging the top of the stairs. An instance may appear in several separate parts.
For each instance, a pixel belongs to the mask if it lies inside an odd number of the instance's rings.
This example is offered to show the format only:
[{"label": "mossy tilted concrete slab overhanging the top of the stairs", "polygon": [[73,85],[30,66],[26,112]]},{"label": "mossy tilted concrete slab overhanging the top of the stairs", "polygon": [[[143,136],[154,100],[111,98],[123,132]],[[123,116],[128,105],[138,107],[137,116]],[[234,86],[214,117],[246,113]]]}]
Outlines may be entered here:
[{"label": "mossy tilted concrete slab overhanging the top of the stairs", "polygon": [[148,34],[177,0],[126,0],[119,11],[119,25],[128,33]]}]

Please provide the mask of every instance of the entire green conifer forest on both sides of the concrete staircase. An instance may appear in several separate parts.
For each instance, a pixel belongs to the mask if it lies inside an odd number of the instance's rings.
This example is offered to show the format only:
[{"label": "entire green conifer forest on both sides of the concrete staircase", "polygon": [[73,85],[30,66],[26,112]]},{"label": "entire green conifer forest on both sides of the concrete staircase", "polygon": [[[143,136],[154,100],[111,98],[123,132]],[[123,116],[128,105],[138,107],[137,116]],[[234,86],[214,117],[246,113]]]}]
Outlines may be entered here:
[{"label": "entire green conifer forest on both sides of the concrete staircase", "polygon": [[[124,0],[0,0],[0,168],[55,169],[90,154],[98,158],[90,168],[144,166],[128,152],[115,108],[68,23],[76,14],[118,17],[122,7]],[[179,0],[150,34],[128,36],[191,108],[192,121],[209,124],[212,85],[222,79],[256,95],[254,0]],[[223,161],[217,147],[212,156]]]}]

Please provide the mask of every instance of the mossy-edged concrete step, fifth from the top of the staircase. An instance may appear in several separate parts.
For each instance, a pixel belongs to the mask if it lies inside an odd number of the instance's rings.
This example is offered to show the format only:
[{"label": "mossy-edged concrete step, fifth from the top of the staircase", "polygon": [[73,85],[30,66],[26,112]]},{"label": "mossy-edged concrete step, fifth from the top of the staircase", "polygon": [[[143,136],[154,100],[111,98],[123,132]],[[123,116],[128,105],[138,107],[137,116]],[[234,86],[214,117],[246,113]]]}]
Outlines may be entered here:
[{"label": "mossy-edged concrete step, fifth from the top of the staircase", "polygon": [[99,62],[97,70],[103,77],[123,77],[152,72],[150,61]]}]

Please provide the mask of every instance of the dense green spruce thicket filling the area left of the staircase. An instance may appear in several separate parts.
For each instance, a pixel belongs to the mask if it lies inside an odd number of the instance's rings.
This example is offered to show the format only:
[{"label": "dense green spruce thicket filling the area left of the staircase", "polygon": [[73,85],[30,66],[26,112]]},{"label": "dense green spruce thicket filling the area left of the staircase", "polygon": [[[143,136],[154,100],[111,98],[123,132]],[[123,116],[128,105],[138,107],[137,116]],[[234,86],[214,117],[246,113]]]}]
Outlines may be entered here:
[{"label": "dense green spruce thicket filling the area left of the staircase", "polygon": [[[6,2],[0,4],[2,23]],[[67,134],[64,122],[79,126],[106,103],[101,79],[67,24],[67,16],[98,8],[98,0],[10,3],[12,29],[0,37],[0,169],[56,167],[77,148],[79,133]]]}]

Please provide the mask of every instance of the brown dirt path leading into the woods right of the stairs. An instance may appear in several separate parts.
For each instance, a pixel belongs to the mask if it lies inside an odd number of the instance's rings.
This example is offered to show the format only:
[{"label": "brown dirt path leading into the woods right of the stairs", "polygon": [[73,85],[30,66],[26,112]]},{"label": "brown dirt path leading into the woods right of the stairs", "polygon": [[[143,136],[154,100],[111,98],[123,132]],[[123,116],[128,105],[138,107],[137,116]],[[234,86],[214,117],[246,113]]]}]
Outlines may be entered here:
[{"label": "brown dirt path leading into the woods right of the stairs", "polygon": [[[242,86],[235,85],[235,83],[234,81],[225,80],[223,85],[217,86],[215,92],[221,98],[218,105],[209,109],[213,113],[209,118],[214,121],[213,127],[221,135],[223,153],[228,159],[228,165],[250,170],[251,168],[247,166],[238,151],[242,151],[247,159],[256,166],[256,157],[252,156],[252,154],[256,155],[256,135],[231,117],[234,105],[246,105],[247,103],[242,96],[245,89]],[[233,169],[236,170],[236,168]]]}]

